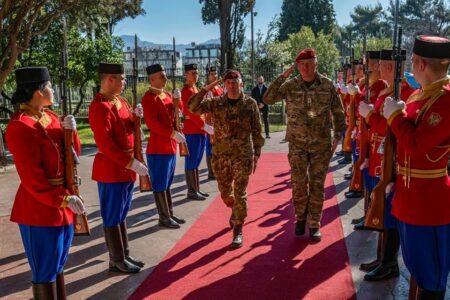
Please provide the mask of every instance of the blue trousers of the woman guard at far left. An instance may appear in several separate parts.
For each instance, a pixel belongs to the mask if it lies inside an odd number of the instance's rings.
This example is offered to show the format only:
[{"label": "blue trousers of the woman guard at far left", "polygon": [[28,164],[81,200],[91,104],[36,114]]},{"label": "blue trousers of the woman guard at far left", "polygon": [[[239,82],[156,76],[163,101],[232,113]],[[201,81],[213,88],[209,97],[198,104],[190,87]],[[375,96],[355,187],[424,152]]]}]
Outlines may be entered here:
[{"label": "blue trousers of the woman guard at far left", "polygon": [[19,224],[33,283],[50,283],[64,270],[73,239],[73,224],[30,226]]}]

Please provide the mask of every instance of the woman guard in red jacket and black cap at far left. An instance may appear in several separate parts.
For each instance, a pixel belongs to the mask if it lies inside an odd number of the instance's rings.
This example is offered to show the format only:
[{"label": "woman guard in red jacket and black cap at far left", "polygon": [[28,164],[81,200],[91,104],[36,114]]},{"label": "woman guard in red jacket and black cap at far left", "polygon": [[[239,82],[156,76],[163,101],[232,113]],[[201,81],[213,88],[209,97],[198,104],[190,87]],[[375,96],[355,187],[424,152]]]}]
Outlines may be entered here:
[{"label": "woman guard in red jacket and black cap at far left", "polygon": [[[31,267],[34,299],[66,299],[64,265],[73,239],[74,213],[84,212],[80,198],[64,186],[64,129],[76,130],[75,118],[61,122],[47,109],[53,89],[46,67],[15,71],[19,104],[6,128],[6,143],[14,158],[20,186],[11,221],[19,224]],[[80,140],[74,135],[80,154]]]}]

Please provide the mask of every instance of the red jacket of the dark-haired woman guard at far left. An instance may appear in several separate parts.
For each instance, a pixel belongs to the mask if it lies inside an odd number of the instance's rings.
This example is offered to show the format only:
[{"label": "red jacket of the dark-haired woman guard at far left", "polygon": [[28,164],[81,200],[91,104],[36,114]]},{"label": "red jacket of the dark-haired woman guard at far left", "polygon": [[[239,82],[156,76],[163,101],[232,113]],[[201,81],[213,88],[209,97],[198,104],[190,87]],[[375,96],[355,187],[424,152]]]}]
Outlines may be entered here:
[{"label": "red jacket of the dark-haired woman guard at far left", "polygon": [[[73,223],[72,210],[62,205],[70,193],[64,187],[64,130],[58,116],[22,104],[11,117],[5,137],[20,177],[11,221],[31,226]],[[79,154],[78,135],[73,142]]]}]

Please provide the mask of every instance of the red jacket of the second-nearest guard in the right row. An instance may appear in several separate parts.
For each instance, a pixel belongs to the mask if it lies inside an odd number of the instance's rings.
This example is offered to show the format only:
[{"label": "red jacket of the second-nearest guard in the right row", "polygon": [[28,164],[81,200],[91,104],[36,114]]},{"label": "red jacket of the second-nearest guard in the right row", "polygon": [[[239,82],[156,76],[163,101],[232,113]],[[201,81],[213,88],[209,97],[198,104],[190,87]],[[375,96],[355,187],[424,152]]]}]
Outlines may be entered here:
[{"label": "red jacket of the second-nearest guard in the right row", "polygon": [[[381,142],[386,136],[387,121],[382,116],[382,109],[384,101],[387,97],[391,97],[393,93],[393,87],[388,87],[381,91],[375,102],[375,111],[367,115],[366,122],[370,126],[371,138],[370,138],[370,162],[369,162],[369,175],[377,176],[381,175],[382,165],[381,161],[383,159],[383,152],[378,151]],[[400,99],[408,99],[408,97],[414,92],[406,80],[401,82]]]}]

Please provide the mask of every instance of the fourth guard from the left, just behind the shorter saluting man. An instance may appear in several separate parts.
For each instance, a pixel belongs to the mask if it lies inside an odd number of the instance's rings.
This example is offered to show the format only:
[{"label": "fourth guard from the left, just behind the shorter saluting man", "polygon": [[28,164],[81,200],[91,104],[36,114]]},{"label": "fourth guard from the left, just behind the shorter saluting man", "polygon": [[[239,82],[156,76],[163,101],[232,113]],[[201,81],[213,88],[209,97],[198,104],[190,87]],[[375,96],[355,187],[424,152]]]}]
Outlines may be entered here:
[{"label": "fourth guard from the left, just behind the shorter saluting man", "polygon": [[181,101],[185,117],[183,133],[189,148],[189,156],[186,156],[184,170],[188,187],[187,198],[193,200],[205,200],[209,194],[200,190],[198,167],[205,152],[206,133],[214,134],[214,128],[205,123],[204,117],[193,114],[188,109],[188,101],[198,93],[195,86],[198,81],[197,64],[184,65],[186,81],[181,90]]}]

